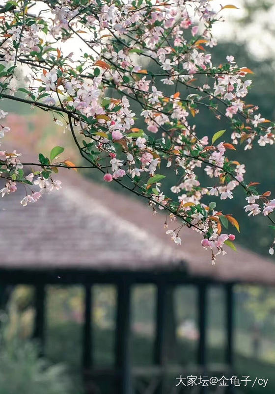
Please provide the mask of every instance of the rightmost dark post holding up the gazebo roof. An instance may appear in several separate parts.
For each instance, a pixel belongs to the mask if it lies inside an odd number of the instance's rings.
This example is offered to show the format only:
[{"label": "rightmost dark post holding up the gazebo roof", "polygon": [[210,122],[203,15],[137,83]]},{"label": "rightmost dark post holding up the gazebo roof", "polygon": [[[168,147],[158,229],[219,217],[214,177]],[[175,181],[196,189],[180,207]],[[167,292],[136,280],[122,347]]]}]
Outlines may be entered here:
[{"label": "rightmost dark post holding up the gazebo roof", "polygon": [[233,324],[234,324],[234,300],[233,300],[233,285],[225,286],[226,294],[226,331],[227,331],[227,345],[226,345],[226,363],[233,366]]}]

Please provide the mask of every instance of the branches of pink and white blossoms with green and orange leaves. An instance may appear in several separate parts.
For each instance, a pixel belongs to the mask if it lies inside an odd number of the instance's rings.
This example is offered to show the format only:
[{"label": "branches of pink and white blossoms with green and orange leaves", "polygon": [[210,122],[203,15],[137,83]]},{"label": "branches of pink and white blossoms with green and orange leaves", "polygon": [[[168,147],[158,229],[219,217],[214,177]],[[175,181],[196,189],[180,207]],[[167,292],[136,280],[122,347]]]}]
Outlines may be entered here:
[{"label": "branches of pink and white blossoms with green and orange leaves", "polygon": [[[255,142],[272,145],[275,125],[244,101],[252,83],[249,68],[231,55],[213,64],[212,26],[223,9],[236,7],[214,10],[211,3],[65,0],[43,2],[41,10],[28,0],[8,1],[0,17],[0,97],[51,111],[72,134],[87,167],[147,199],[154,213],[165,210],[176,227],[166,233],[176,244],[184,226],[201,234],[214,263],[226,253],[224,244],[235,249],[228,225],[239,231],[238,221],[216,208],[218,199],[232,199],[242,187],[248,215],[262,213],[273,222],[275,200],[268,191],[259,193],[257,183],[246,183],[245,166],[230,159],[230,151],[241,143],[245,150]],[[73,46],[81,49],[69,52]],[[17,81],[20,67],[24,86]],[[205,107],[209,116],[228,122],[230,141],[226,130],[199,136],[195,120]],[[0,124],[0,137],[7,131]],[[60,158],[63,151],[57,146],[49,157],[40,154],[32,164],[39,170],[30,173],[16,151],[0,151],[2,197],[24,184],[30,190],[21,201],[25,206],[59,189],[58,169],[78,167]],[[165,167],[177,175],[173,199],[162,191]],[[201,167],[209,186],[200,183]],[[205,203],[205,196],[218,197],[217,203]]]}]

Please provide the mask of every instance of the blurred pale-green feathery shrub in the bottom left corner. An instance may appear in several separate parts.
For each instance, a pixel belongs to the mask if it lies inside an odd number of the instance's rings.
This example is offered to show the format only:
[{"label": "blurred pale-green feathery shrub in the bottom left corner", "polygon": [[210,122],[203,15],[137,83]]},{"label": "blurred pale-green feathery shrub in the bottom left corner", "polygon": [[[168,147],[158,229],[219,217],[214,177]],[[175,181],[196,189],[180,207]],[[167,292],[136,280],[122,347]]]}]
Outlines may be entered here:
[{"label": "blurred pale-green feathery shrub in the bottom left corner", "polygon": [[72,393],[65,367],[41,358],[39,345],[34,341],[22,339],[16,333],[11,335],[8,316],[1,317],[0,393]]}]

